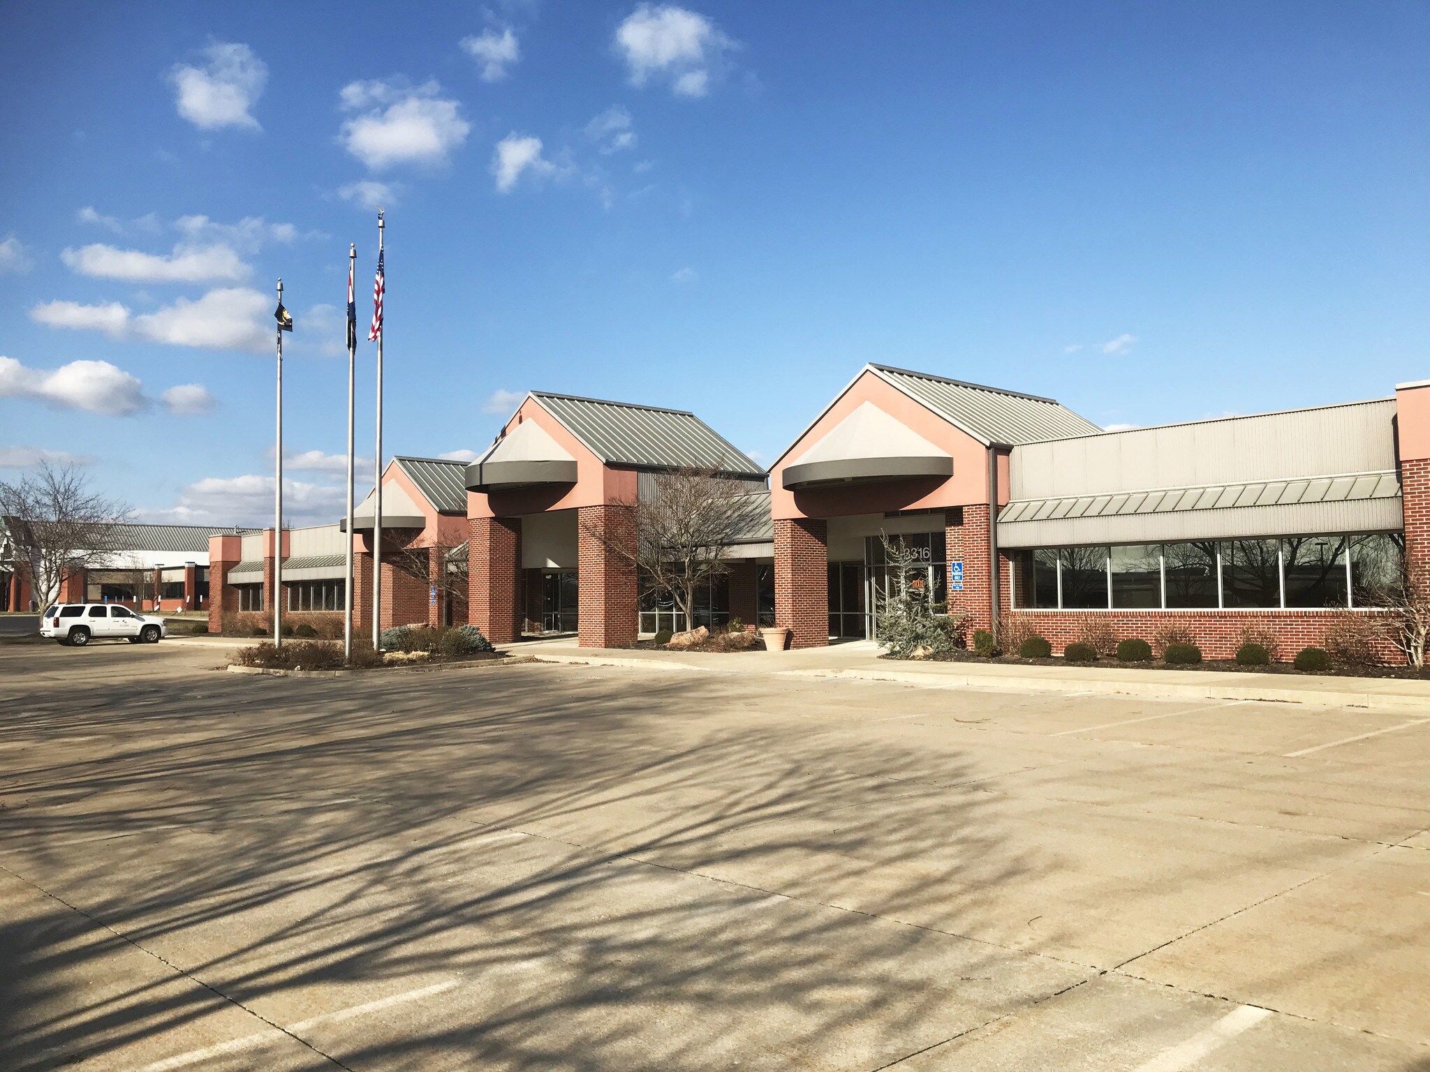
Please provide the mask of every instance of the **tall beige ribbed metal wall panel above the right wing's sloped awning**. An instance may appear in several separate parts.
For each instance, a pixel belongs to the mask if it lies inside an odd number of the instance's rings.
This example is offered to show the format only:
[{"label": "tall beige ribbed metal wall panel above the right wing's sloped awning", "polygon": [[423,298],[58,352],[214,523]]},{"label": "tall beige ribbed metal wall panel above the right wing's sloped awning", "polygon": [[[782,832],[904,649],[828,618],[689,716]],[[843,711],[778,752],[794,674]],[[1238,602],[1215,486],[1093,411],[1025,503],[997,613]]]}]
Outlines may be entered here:
[{"label": "tall beige ribbed metal wall panel above the right wing's sloped awning", "polygon": [[1224,417],[1027,443],[1012,499],[1145,492],[1394,467],[1396,400]]}]

